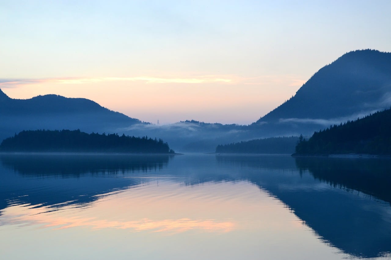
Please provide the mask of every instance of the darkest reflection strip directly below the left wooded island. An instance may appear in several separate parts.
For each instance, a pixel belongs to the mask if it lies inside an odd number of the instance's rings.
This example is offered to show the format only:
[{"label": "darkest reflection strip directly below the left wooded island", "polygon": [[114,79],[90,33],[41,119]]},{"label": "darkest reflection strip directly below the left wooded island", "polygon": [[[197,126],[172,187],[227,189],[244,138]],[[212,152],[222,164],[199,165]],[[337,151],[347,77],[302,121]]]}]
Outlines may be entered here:
[{"label": "darkest reflection strip directly below the left wooded island", "polygon": [[148,172],[163,169],[170,155],[121,154],[2,154],[0,160],[21,175],[71,175],[86,173]]}]

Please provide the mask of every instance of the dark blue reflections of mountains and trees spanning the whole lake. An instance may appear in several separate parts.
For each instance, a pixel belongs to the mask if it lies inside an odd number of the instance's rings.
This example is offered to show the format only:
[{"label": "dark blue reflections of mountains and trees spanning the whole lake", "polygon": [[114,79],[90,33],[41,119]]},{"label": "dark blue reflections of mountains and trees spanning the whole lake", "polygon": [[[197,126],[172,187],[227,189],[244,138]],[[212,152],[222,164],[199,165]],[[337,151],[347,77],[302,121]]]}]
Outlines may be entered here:
[{"label": "dark blue reflections of mountains and trees spanning the whole lake", "polygon": [[[84,207],[96,201],[96,195],[149,182],[151,175],[167,175],[185,185],[246,180],[278,198],[346,253],[375,257],[391,251],[388,160],[234,155],[173,160],[165,155],[2,155],[0,160],[2,183],[8,183],[2,186],[0,210],[11,200],[53,210]],[[132,178],[113,178],[122,176]],[[56,206],[64,202],[68,204]]]}]

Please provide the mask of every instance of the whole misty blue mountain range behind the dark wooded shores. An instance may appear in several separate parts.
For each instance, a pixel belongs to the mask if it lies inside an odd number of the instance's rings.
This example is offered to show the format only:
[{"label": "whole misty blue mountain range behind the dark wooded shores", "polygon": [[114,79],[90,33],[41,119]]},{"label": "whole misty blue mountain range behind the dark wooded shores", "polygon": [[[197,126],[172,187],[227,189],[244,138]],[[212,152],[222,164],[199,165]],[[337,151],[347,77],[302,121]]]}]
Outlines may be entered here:
[{"label": "whole misty blue mountain range behind the dark wooded shores", "polygon": [[214,151],[218,144],[312,135],[315,130],[391,105],[391,53],[357,50],[319,69],[287,102],[248,126],[184,121],[152,125],[83,98],[57,95],[11,99],[0,91],[0,138],[21,130],[80,129],[157,137],[176,151]]}]

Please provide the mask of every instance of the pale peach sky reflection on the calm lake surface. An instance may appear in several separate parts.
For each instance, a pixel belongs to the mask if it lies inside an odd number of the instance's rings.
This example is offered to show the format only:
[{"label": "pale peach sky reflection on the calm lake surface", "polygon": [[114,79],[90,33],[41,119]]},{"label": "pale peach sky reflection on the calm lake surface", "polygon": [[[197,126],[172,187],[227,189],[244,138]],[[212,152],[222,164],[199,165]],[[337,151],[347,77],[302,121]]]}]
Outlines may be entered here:
[{"label": "pale peach sky reflection on the calm lake surface", "polygon": [[[7,208],[4,216],[14,215],[14,220],[19,221],[13,223],[18,225],[13,235],[24,234],[18,241],[25,240],[25,236],[47,240],[72,232],[70,240],[61,238],[61,247],[76,248],[82,255],[91,246],[94,250],[97,247],[97,251],[102,247],[111,248],[110,251],[115,248],[113,255],[118,258],[132,255],[148,259],[238,259],[247,255],[248,259],[255,259],[263,252],[269,258],[282,259],[295,248],[300,248],[301,256],[315,257],[319,252],[324,255],[320,259],[333,256],[333,250],[314,239],[311,230],[288,208],[248,182],[192,187],[161,180],[159,186],[151,182],[99,198],[82,210],[65,207],[41,214],[43,210],[44,207],[31,209],[22,205]],[[29,226],[23,226],[26,223]],[[0,228],[7,230],[11,226]],[[96,241],[97,235],[102,239]],[[81,244],[93,244],[77,250],[72,242],[75,239]],[[124,240],[129,243],[128,250],[122,248]],[[50,248],[55,242],[47,243]],[[11,243],[5,241],[3,245],[7,244]],[[312,253],[303,250],[307,246]],[[95,252],[92,255],[99,258]]]}]

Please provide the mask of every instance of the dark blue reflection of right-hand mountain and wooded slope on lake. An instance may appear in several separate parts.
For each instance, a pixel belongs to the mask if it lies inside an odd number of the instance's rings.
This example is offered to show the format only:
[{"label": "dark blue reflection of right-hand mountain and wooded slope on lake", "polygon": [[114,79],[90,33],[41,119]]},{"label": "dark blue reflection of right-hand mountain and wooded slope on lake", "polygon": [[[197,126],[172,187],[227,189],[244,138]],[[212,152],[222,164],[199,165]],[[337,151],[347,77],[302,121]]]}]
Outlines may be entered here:
[{"label": "dark blue reflection of right-hand mountain and wooded slope on lake", "polygon": [[[300,169],[297,172],[291,171],[295,160],[289,157],[216,158],[221,164],[239,166],[243,178],[280,199],[318,235],[342,251],[365,258],[391,251],[391,208],[367,195],[389,201],[390,161],[303,158],[296,161]],[[370,176],[373,181],[369,181]]]}]

